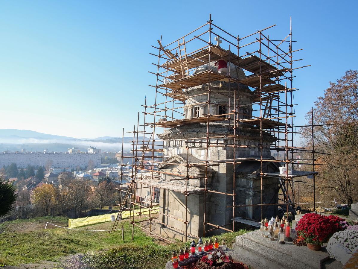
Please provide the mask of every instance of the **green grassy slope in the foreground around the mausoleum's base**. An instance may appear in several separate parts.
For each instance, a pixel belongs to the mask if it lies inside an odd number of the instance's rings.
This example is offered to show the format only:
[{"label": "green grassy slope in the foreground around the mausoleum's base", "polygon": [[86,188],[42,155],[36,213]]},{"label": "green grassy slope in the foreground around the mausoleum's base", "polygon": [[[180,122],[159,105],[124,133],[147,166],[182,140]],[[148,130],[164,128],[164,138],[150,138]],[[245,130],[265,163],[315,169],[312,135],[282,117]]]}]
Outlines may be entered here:
[{"label": "green grassy slope in the foreground around the mausoleum's base", "polygon": [[[188,246],[187,243],[177,242],[171,245],[159,245],[153,237],[146,236],[139,227],[134,227],[134,240],[131,240],[132,227],[124,221],[125,241],[122,241],[120,231],[91,232],[77,231],[48,226],[46,222],[67,226],[68,218],[39,217],[29,220],[8,221],[0,224],[0,264],[18,265],[39,260],[58,261],[59,256],[75,253],[88,253],[84,258],[95,267],[102,268],[163,268],[170,259],[173,250]],[[79,229],[107,230],[113,222],[104,222]],[[118,227],[120,227],[118,225]],[[235,236],[247,232],[240,230],[220,236],[219,242],[226,239],[228,247],[232,245]],[[205,241],[205,239],[203,240]],[[100,249],[110,249],[97,253]],[[154,259],[155,258],[155,259]],[[154,260],[155,262],[154,262]],[[152,262],[153,260],[153,262]]]}]

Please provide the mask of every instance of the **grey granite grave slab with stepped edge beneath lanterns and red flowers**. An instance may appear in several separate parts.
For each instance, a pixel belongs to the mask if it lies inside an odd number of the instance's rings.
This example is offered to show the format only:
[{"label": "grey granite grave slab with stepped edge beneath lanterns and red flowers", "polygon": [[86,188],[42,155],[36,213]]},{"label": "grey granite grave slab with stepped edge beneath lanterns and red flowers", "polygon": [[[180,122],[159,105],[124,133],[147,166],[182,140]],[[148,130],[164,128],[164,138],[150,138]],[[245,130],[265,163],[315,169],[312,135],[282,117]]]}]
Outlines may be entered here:
[{"label": "grey granite grave slab with stepped edge beneath lanterns and red flowers", "polygon": [[322,247],[319,251],[306,246],[296,246],[292,242],[280,245],[261,236],[260,230],[236,236],[231,255],[251,266],[252,269],[339,269],[343,268],[338,261],[329,258]]}]

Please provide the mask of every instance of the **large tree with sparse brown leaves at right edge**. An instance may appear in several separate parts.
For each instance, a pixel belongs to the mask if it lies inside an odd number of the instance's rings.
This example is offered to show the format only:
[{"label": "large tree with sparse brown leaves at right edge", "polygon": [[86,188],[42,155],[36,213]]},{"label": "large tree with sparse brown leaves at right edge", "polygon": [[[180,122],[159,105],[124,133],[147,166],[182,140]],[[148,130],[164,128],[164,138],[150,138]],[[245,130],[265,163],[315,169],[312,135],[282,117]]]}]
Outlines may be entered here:
[{"label": "large tree with sparse brown leaves at right edge", "polygon": [[[330,82],[314,109],[314,143],[318,152],[320,192],[339,198],[349,206],[358,199],[358,72],[349,70],[337,82]],[[306,119],[311,123],[311,115]],[[311,146],[311,129],[303,128]]]}]

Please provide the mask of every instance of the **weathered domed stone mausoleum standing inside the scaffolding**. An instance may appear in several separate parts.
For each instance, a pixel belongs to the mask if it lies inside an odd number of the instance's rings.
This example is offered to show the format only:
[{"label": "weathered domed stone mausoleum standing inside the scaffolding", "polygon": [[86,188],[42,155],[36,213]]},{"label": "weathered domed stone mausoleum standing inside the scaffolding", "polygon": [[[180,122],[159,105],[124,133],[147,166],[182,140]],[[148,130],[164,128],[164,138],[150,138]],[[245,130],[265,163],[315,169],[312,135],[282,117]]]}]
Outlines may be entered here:
[{"label": "weathered domed stone mausoleum standing inside the scaffolding", "polygon": [[[195,72],[201,72],[208,69],[208,64],[200,66]],[[211,66],[213,72],[217,72],[217,68]],[[234,64],[230,66],[230,76],[233,78],[243,78],[245,73],[242,69],[236,67]],[[241,83],[229,83],[215,81],[210,84],[210,106],[208,104],[201,104],[206,102],[207,95],[200,95],[208,91],[208,84],[188,88],[184,90],[184,94],[188,97],[184,106],[184,118],[202,117],[204,114],[210,112],[211,115],[222,115],[229,113],[234,107],[234,89],[236,92],[236,104],[239,109],[238,118],[247,119],[252,115],[252,91]],[[228,96],[230,95],[230,106],[228,104]],[[223,117],[228,117],[223,116]],[[233,115],[230,115],[233,119]],[[207,188],[213,191],[232,193],[233,192],[233,176],[234,169],[232,163],[220,162],[222,160],[233,159],[233,135],[232,126],[229,126],[228,121],[217,121],[209,123],[209,132],[211,136],[222,136],[224,138],[209,139],[208,161],[218,162],[216,166],[207,168],[208,181]],[[217,134],[217,135],[216,135]],[[253,125],[240,123],[236,129],[238,138],[236,144],[240,147],[236,148],[236,158],[260,158],[260,130]],[[206,159],[206,143],[207,139],[207,124],[187,124],[176,126],[165,130],[163,134],[158,135],[160,139],[165,141],[164,154],[169,156],[164,160],[165,163],[173,163],[159,165],[158,169],[168,174],[161,174],[161,178],[165,181],[174,179],[169,173],[180,174],[184,177],[187,175],[187,145],[189,146],[189,161],[188,163],[204,164]],[[226,137],[228,136],[228,137]],[[271,158],[270,144],[275,141],[274,136],[268,133],[263,133],[262,140],[262,157],[265,159]],[[175,165],[179,163],[182,165]],[[235,169],[235,192],[237,205],[259,204],[261,202],[261,181],[260,170],[261,164],[255,160],[247,160],[236,164]],[[279,168],[275,162],[264,162],[263,172],[278,172]],[[189,175],[194,177],[205,177],[205,166],[195,166],[189,168]],[[178,182],[186,184],[186,179]],[[191,186],[201,187],[204,189],[205,181],[202,179],[189,179],[188,184]],[[263,203],[277,203],[278,202],[278,179],[274,177],[263,178]],[[185,220],[185,195],[175,191],[161,189],[160,195],[160,211],[180,220]],[[195,193],[187,196],[187,210],[188,210],[188,234],[195,236],[203,236],[203,222],[204,222],[204,208],[206,208],[206,222],[215,225],[227,225],[232,222],[233,208],[226,207],[233,204],[232,196],[207,193],[207,204],[204,207],[205,193]],[[277,214],[277,206],[266,206],[263,208],[263,215],[274,216]],[[245,217],[250,220],[260,221],[261,207],[239,207],[235,209],[235,217]],[[168,216],[162,217],[161,220],[165,225],[157,225],[157,232],[165,234],[170,237],[184,237],[181,232],[170,229],[172,226],[179,231],[185,232],[185,223],[175,218]],[[168,226],[167,226],[168,225]],[[231,229],[232,224],[226,228]],[[212,226],[207,226],[212,229]],[[215,230],[213,233],[221,233],[222,230]],[[208,235],[208,234],[206,234]]]}]

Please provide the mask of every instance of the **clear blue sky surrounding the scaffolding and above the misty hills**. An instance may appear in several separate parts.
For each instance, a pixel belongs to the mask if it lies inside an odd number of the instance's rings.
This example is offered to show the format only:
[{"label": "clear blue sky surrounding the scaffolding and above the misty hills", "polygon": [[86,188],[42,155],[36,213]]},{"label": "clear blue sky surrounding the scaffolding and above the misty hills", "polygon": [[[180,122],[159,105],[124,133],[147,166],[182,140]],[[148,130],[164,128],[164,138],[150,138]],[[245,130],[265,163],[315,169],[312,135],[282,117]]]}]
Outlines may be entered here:
[{"label": "clear blue sky surrounding the scaffolding and above the misty hills", "polygon": [[[124,1],[123,1],[124,2]],[[292,3],[294,2],[294,3]],[[357,1],[0,1],[1,129],[95,138],[132,130],[153,101],[150,45],[214,23],[244,36],[292,16],[296,123],[329,81],[357,69]]]}]

